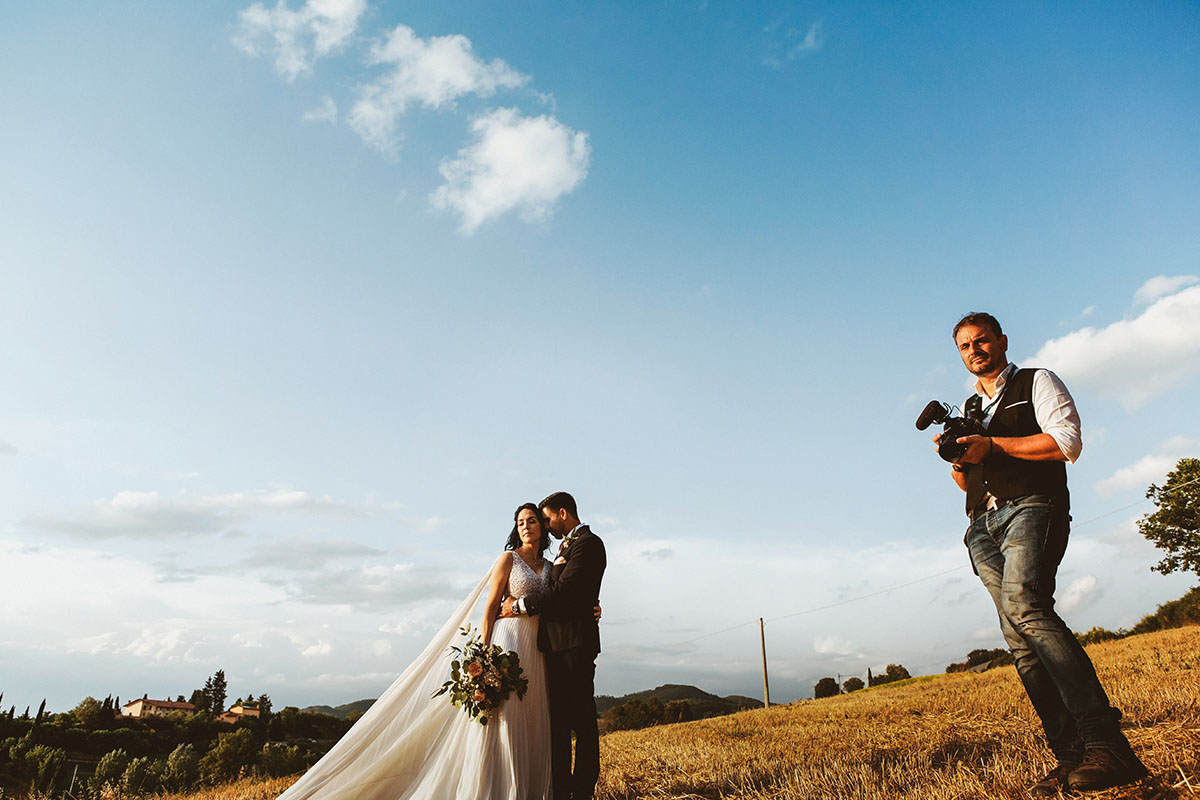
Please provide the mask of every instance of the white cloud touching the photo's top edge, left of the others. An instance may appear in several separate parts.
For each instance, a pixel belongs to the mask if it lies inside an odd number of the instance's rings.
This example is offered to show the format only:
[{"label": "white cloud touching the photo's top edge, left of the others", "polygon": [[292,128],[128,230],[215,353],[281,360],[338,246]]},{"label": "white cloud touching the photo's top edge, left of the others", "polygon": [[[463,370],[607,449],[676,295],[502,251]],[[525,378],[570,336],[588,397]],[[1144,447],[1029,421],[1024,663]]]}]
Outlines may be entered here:
[{"label": "white cloud touching the photo's top edge, left of the others", "polygon": [[275,71],[292,82],[318,58],[341,49],[366,7],[366,0],[307,0],[298,11],[287,0],[272,8],[256,2],[238,12],[233,41],[250,55],[274,55]]}]

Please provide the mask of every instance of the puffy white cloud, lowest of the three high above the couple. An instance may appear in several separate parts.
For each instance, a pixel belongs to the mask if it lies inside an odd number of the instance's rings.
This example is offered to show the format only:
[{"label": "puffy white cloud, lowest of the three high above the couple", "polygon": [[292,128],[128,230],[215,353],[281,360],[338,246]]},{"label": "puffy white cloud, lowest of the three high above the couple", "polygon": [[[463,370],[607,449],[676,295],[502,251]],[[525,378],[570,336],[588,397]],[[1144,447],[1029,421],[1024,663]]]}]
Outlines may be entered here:
[{"label": "puffy white cloud, lowest of the three high above the couple", "polygon": [[553,116],[500,108],[476,116],[472,131],[475,140],[442,163],[446,182],[430,198],[461,215],[463,233],[512,210],[527,221],[544,218],[587,178],[587,133]]}]

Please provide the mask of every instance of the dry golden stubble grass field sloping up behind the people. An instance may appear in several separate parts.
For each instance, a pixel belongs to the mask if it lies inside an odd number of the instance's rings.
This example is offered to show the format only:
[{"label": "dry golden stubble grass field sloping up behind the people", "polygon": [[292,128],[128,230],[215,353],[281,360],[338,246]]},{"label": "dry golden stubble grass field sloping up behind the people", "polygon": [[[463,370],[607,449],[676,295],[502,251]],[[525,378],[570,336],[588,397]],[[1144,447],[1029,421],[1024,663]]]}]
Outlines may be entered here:
[{"label": "dry golden stubble grass field sloping up behind the people", "polygon": [[[1200,627],[1088,648],[1151,770],[1088,798],[1200,798]],[[990,800],[1026,798],[1052,766],[1013,667],[917,678],[790,705],[612,733],[598,798]],[[175,800],[271,800],[290,778]]]}]

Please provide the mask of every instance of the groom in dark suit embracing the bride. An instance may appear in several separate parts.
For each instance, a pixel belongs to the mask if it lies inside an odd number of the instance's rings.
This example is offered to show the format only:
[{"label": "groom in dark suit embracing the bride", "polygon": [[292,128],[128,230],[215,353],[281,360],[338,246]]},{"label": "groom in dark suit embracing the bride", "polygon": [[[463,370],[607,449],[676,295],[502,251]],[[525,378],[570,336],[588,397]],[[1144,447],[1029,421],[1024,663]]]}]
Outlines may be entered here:
[{"label": "groom in dark suit embracing the bride", "polygon": [[551,567],[550,588],[540,595],[505,600],[500,615],[541,615],[538,648],[546,654],[554,800],[590,800],[600,777],[595,703],[600,625],[593,607],[600,603],[604,542],[580,523],[575,498],[566,492],[554,492],[539,506],[550,533],[563,540]]}]

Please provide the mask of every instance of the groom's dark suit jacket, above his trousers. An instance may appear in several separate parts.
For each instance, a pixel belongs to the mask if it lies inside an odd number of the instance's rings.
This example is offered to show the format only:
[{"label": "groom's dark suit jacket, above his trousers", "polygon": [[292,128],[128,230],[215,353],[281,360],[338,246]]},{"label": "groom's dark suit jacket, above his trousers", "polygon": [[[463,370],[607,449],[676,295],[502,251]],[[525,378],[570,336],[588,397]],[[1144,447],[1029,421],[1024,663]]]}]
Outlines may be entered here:
[{"label": "groom's dark suit jacket, above his trousers", "polygon": [[541,616],[538,648],[542,652],[575,648],[600,652],[600,625],[593,608],[600,602],[600,579],[607,565],[604,542],[582,525],[562,558],[562,564],[551,566],[547,590],[524,601],[529,614]]}]

